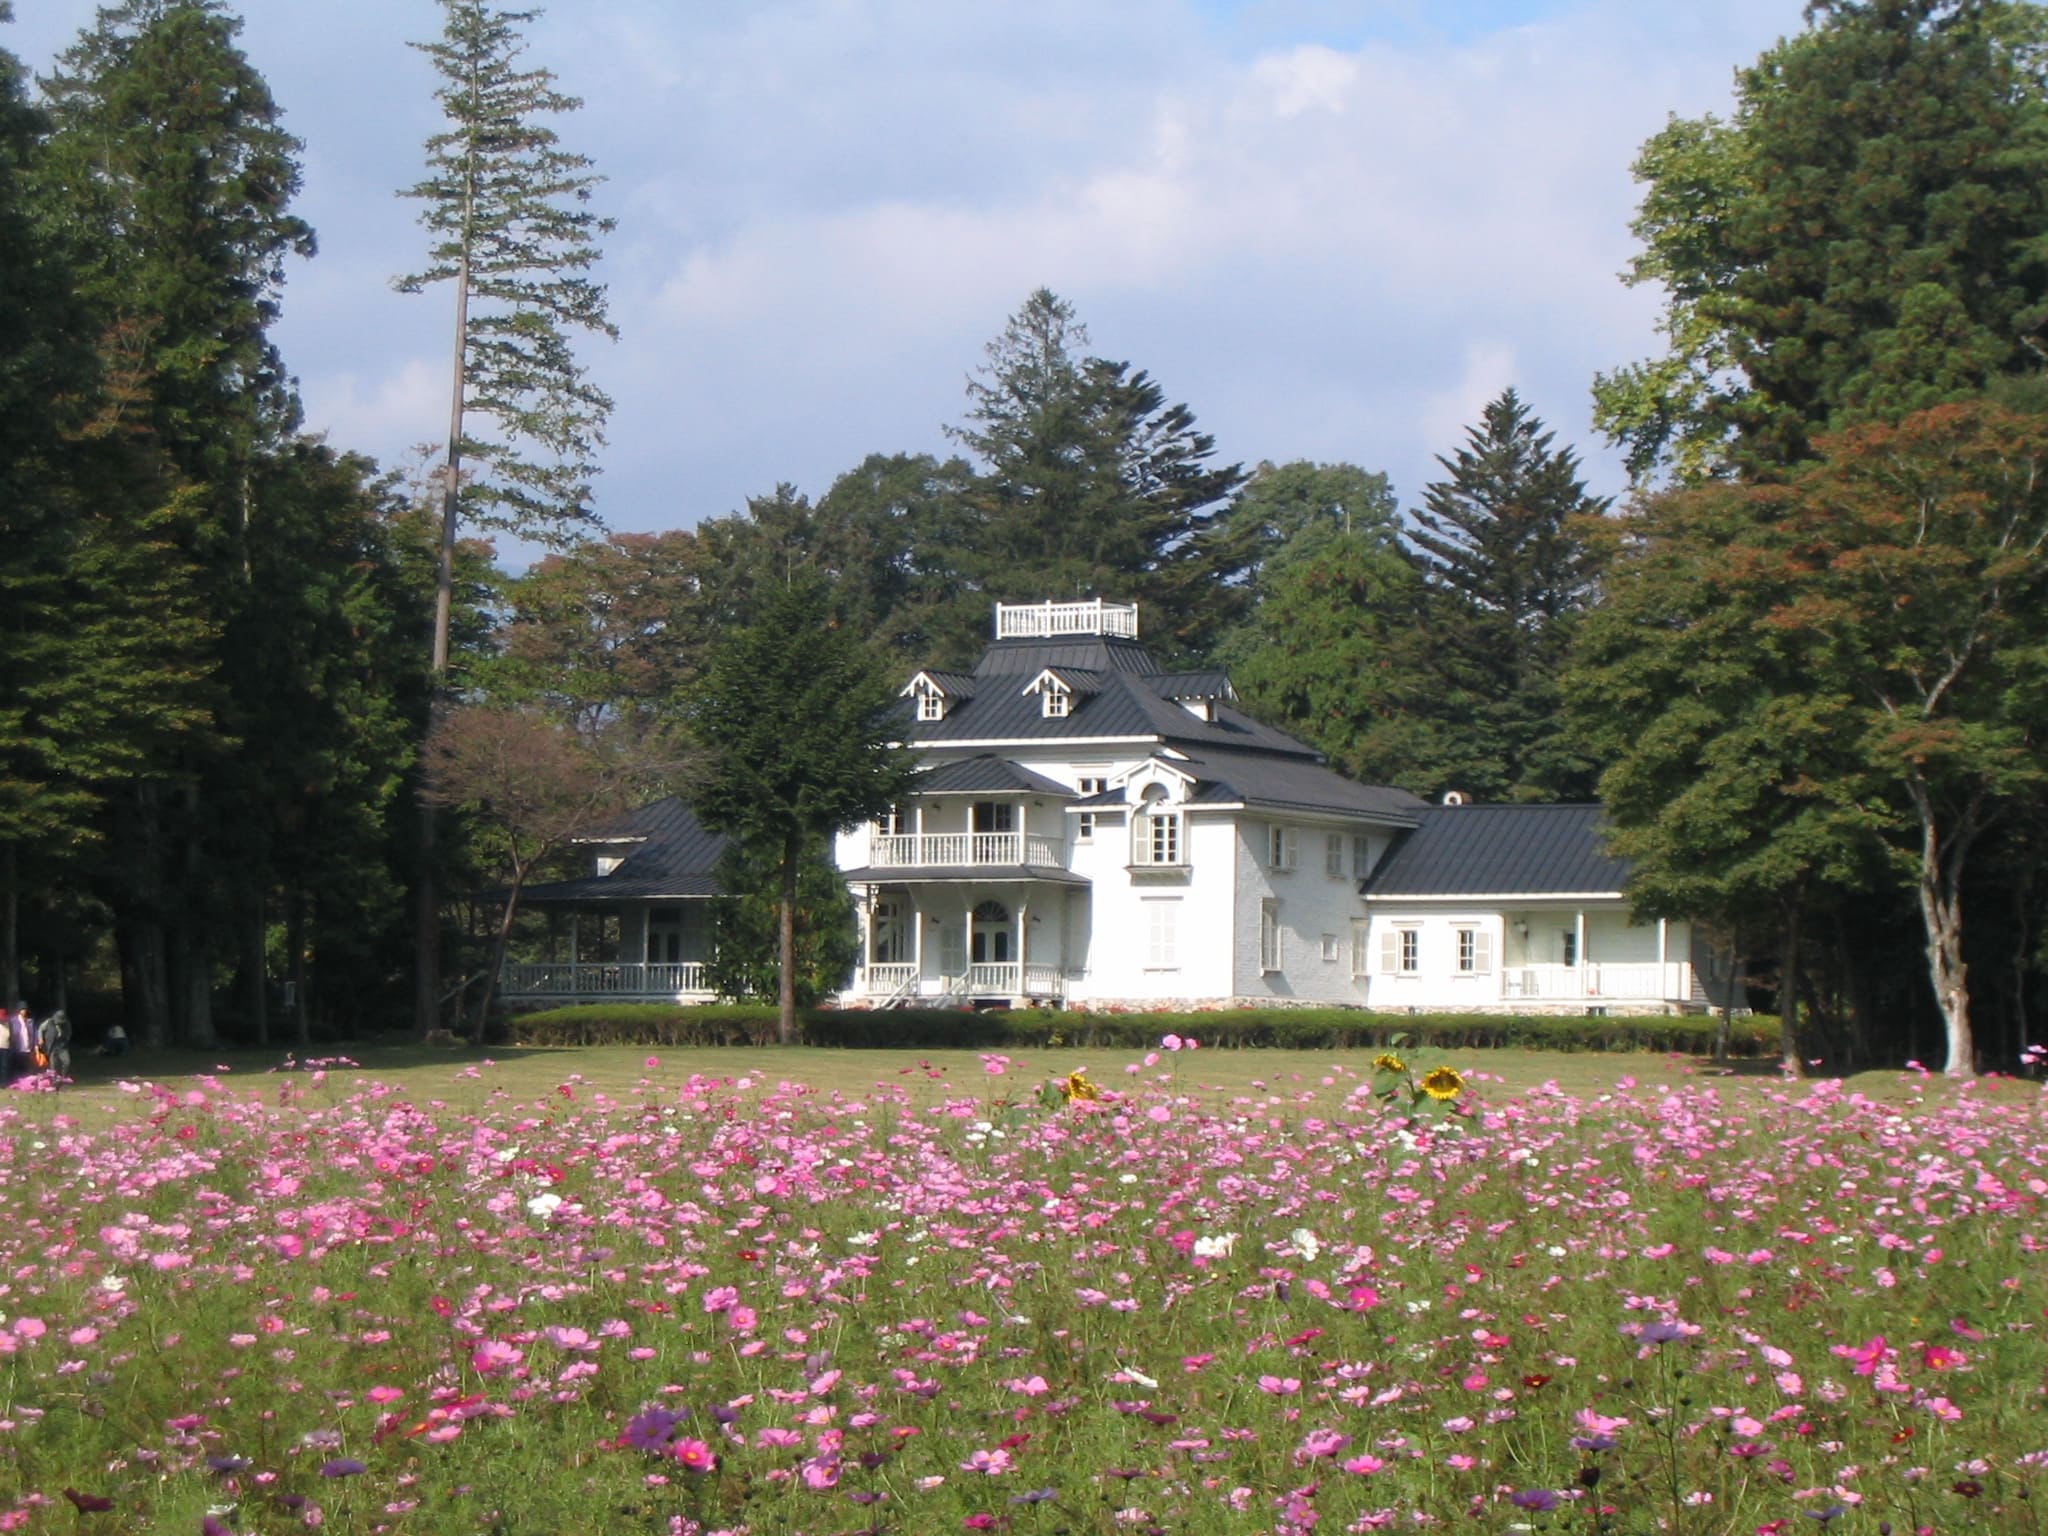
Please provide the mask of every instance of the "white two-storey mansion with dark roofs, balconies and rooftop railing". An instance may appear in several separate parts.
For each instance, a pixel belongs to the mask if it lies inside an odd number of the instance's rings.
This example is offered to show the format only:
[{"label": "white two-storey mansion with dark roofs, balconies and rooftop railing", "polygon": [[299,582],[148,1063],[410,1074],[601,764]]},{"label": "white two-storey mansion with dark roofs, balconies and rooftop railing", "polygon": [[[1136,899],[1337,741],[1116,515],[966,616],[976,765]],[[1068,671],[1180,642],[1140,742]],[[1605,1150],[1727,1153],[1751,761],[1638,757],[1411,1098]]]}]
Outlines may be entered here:
[{"label": "white two-storey mansion with dark roofs, balconies and rooftop railing", "polygon": [[[903,686],[915,793],[838,840],[866,1006],[1323,1004],[1669,1012],[1718,995],[1683,922],[1636,924],[1591,805],[1440,805],[1352,780],[1163,672],[1135,606],[995,608],[973,672]],[[512,999],[702,991],[723,840],[678,801],[528,901],[600,952],[514,965]],[[571,932],[590,928],[575,924]]]}]

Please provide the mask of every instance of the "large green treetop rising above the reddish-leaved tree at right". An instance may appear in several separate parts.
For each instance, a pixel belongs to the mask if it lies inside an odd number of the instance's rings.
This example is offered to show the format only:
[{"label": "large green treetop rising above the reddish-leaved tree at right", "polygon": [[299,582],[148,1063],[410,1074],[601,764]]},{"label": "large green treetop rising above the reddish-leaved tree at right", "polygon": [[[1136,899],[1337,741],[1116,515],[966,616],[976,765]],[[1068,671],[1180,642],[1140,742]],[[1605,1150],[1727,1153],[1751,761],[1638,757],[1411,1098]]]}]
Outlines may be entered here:
[{"label": "large green treetop rising above the reddish-leaved tree at right", "polygon": [[2009,0],[1815,0],[1636,160],[1632,283],[1665,354],[1595,418],[1647,479],[1784,467],[1817,432],[2038,375],[2048,348],[2044,20]]}]

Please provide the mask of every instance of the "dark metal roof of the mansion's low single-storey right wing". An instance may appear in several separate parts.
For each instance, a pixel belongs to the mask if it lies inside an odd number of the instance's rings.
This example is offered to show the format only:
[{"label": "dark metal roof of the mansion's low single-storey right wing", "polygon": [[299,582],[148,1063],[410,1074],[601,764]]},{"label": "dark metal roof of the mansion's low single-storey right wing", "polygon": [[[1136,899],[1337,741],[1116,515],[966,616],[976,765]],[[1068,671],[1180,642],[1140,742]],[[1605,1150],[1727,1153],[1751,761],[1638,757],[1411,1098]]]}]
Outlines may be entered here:
[{"label": "dark metal roof of the mansion's low single-storey right wing", "polygon": [[1597,805],[1434,805],[1372,870],[1366,897],[1616,895]]}]

